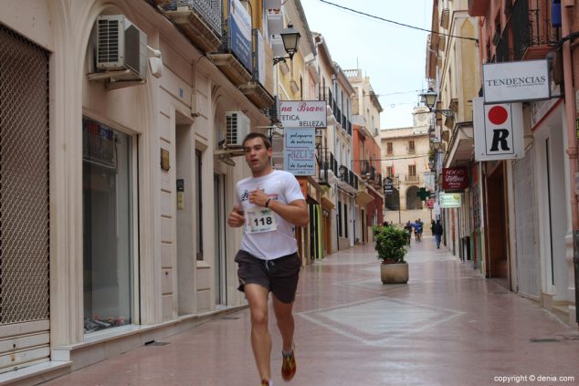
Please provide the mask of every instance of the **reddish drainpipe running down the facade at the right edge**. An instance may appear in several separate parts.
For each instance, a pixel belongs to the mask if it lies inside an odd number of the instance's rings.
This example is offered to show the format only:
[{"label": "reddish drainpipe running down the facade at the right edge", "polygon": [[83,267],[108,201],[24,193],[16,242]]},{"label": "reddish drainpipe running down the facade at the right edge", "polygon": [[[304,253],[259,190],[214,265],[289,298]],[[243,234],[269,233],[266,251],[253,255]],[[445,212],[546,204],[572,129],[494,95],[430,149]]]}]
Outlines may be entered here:
[{"label": "reddish drainpipe running down the facade at the right edge", "polygon": [[[561,32],[563,37],[571,33],[569,8],[575,5],[574,0],[563,0],[561,7]],[[567,119],[567,154],[569,155],[569,178],[571,186],[571,216],[574,241],[574,286],[575,286],[575,321],[579,323],[579,250],[576,241],[579,238],[579,215],[577,214],[577,196],[575,194],[575,173],[577,172],[577,132],[575,130],[575,94],[573,82],[573,58],[571,40],[563,43],[563,79],[565,84],[565,115]]]}]

